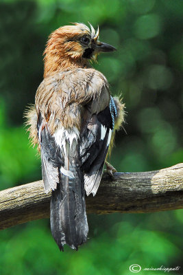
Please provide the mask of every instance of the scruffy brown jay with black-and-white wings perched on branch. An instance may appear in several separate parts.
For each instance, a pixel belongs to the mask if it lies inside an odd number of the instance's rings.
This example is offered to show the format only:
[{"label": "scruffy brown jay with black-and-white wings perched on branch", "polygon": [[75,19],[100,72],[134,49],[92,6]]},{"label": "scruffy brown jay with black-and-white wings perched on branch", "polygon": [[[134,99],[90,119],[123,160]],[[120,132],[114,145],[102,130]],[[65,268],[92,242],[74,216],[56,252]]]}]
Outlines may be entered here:
[{"label": "scruffy brown jay with black-and-white wings perched on branch", "polygon": [[98,39],[99,29],[83,23],[49,36],[44,80],[27,112],[45,192],[51,190],[51,232],[60,250],[66,243],[77,250],[86,242],[85,191],[96,194],[114,131],[123,122],[123,104],[110,96],[105,76],[90,65],[100,52],[115,50]]}]

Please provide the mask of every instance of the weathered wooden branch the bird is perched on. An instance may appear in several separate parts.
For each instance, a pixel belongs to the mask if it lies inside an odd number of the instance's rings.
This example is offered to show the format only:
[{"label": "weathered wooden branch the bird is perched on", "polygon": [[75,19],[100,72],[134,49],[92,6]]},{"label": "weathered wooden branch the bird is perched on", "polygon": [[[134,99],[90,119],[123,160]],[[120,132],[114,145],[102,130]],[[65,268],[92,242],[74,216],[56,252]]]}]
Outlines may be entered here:
[{"label": "weathered wooden branch the bird is perched on", "polygon": [[[42,181],[0,192],[0,229],[49,217],[51,192]],[[183,208],[183,164],[143,173],[103,175],[97,195],[86,198],[88,213],[145,213]]]}]

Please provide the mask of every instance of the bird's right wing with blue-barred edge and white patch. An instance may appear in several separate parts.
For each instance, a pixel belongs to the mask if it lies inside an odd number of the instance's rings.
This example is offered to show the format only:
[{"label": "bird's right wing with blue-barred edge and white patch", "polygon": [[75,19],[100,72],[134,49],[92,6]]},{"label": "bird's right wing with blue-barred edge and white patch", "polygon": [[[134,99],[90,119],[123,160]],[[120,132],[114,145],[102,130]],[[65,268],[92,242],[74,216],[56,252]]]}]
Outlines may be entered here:
[{"label": "bird's right wing with blue-barred edge and white patch", "polygon": [[[90,109],[90,108],[89,108]],[[80,157],[84,170],[84,188],[86,195],[95,196],[101,181],[103,165],[108,153],[114,117],[117,108],[111,97],[108,106],[99,113],[92,113],[81,136]]]}]

